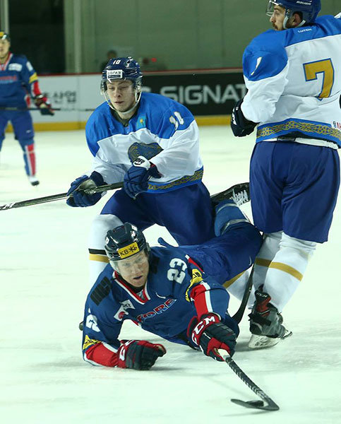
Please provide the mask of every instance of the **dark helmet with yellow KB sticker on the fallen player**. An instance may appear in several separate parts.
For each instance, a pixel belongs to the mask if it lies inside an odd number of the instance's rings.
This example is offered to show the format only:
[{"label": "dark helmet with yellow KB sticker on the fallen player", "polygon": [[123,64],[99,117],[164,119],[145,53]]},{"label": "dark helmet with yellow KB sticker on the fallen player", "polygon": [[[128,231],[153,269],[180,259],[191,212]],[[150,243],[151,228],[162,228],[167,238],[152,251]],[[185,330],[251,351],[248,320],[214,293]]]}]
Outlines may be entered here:
[{"label": "dark helmet with yellow KB sticker on the fallen player", "polygon": [[104,249],[110,264],[116,269],[114,262],[132,257],[143,250],[148,253],[149,245],[141,230],[131,223],[124,223],[107,232]]}]

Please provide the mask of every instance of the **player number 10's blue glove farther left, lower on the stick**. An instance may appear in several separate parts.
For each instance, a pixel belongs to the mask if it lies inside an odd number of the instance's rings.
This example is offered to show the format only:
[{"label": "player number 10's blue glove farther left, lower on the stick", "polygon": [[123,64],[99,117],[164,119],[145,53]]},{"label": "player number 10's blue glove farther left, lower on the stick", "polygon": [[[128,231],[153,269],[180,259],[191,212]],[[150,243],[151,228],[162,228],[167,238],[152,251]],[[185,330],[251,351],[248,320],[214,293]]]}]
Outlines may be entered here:
[{"label": "player number 10's blue glove farther left, lower on the stick", "polygon": [[92,206],[100,200],[103,193],[94,193],[94,194],[85,194],[85,189],[93,189],[100,185],[105,184],[102,175],[94,171],[88,177],[88,175],[83,175],[78,177],[75,181],[71,182],[71,187],[68,189],[67,195],[72,194],[73,197],[69,197],[66,200],[68,206],[73,208],[85,208],[86,206]]}]

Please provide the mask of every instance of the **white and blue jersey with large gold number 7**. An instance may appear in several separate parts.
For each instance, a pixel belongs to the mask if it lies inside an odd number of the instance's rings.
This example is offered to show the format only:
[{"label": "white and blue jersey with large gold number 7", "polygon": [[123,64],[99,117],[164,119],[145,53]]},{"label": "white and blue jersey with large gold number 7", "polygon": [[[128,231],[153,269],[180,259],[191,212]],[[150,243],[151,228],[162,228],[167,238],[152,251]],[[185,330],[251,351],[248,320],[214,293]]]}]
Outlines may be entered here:
[{"label": "white and blue jersey with large gold number 7", "polygon": [[241,110],[259,122],[257,142],[299,133],[297,142],[341,146],[340,18],[258,35],[246,47],[243,69],[249,91]]}]

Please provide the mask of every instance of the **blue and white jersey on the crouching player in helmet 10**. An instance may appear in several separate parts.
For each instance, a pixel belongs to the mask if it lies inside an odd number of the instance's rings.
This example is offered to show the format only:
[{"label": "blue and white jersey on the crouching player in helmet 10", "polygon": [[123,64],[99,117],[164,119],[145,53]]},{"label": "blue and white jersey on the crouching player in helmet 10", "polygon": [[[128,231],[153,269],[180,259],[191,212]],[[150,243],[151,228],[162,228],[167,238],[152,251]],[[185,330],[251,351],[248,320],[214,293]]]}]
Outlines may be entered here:
[{"label": "blue and white jersey on the crouching player in helmet 10", "polygon": [[100,172],[108,184],[123,181],[139,155],[152,159],[162,175],[150,179],[148,192],[196,184],[203,176],[198,125],[184,105],[163,95],[142,93],[128,126],[113,117],[105,102],[90,116],[85,134],[95,157],[91,172]]}]

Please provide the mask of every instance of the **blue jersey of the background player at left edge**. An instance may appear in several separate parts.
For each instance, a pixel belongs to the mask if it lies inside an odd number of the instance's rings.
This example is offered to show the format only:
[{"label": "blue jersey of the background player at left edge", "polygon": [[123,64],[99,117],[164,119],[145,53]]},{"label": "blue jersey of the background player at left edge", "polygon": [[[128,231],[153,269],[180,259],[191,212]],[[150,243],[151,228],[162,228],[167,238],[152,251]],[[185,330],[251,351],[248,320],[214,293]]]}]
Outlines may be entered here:
[{"label": "blue jersey of the background player at left edge", "polygon": [[32,95],[37,73],[25,56],[10,53],[0,64],[0,106],[26,107],[25,96]]}]

